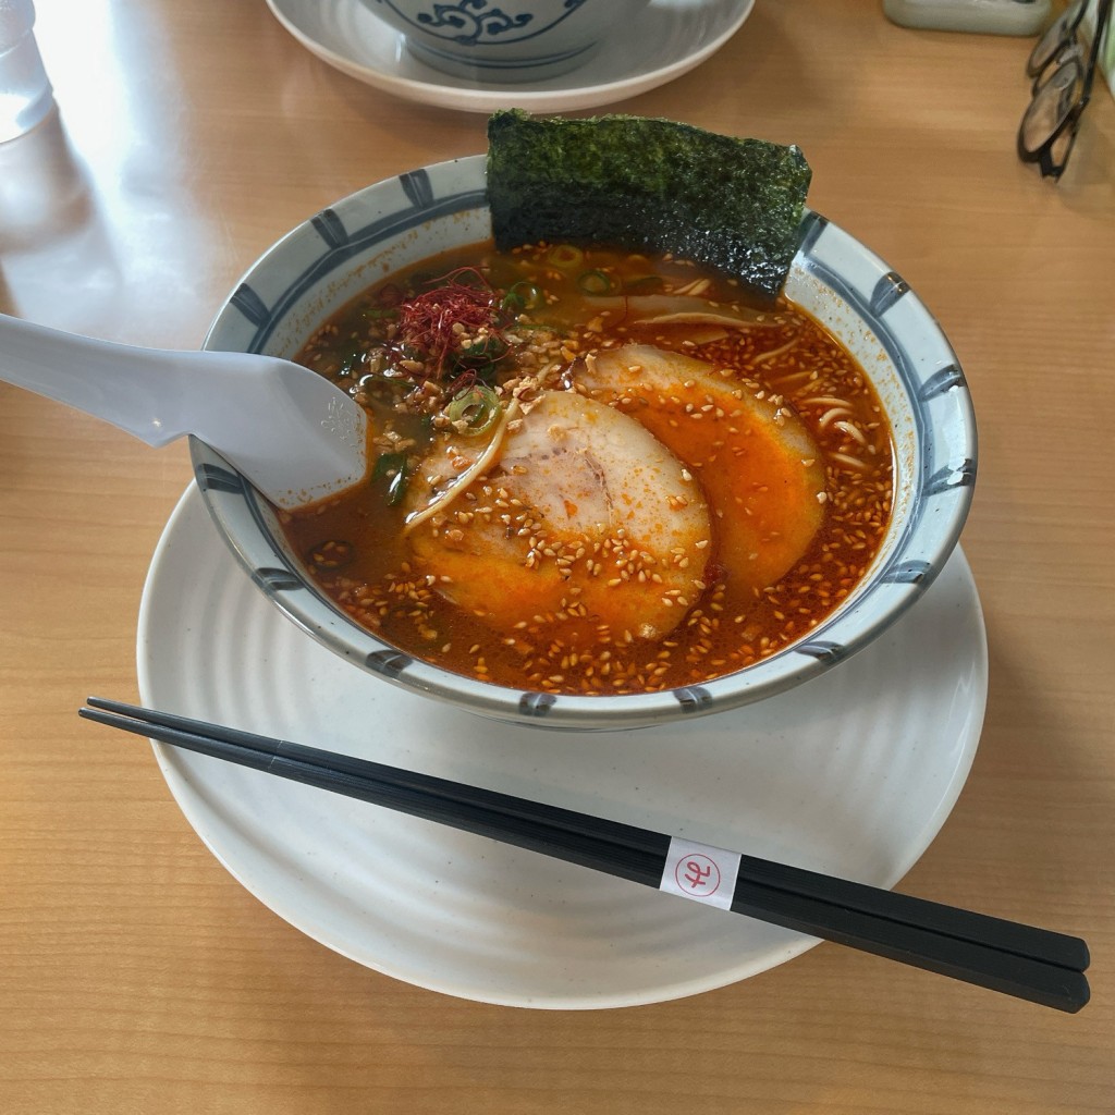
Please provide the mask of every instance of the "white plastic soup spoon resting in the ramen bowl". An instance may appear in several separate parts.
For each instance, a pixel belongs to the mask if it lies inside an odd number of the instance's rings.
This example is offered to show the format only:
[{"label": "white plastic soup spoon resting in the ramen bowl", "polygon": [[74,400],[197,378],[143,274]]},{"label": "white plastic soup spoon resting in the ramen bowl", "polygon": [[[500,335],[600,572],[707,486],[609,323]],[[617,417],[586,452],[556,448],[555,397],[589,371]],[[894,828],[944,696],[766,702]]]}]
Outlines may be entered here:
[{"label": "white plastic soup spoon resting in the ramen bowl", "polygon": [[278,357],[136,348],[0,314],[0,381],[156,447],[194,434],[280,507],[342,492],[368,471],[360,406]]}]

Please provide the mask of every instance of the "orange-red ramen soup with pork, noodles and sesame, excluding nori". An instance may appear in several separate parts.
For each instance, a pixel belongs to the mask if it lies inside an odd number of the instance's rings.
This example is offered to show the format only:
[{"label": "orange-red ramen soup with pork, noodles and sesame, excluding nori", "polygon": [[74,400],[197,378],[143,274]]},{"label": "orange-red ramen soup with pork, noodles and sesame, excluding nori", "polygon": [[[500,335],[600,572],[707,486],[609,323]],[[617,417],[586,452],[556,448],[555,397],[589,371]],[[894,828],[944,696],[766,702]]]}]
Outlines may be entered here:
[{"label": "orange-red ramen soup with pork, noodles and sesame, excluding nori", "polygon": [[692,685],[802,638],[890,517],[891,435],[785,300],[605,249],[476,245],[379,283],[299,359],[368,409],[370,487],[282,516],[357,622],[518,689]]}]

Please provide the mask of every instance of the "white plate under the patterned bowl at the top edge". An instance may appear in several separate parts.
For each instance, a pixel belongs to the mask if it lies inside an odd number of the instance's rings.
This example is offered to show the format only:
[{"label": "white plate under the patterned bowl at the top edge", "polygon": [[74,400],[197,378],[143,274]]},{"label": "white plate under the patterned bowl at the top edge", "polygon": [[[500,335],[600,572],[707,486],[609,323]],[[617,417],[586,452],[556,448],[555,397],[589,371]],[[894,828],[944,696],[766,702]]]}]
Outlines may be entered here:
[{"label": "white plate under the patterned bowl at the top edge", "polygon": [[308,50],[350,77],[424,105],[492,113],[593,108],[681,77],[724,46],[755,0],[652,0],[634,27],[605,42],[580,69],[545,81],[484,85],[439,74],[413,58],[403,36],[360,0],[268,0]]}]

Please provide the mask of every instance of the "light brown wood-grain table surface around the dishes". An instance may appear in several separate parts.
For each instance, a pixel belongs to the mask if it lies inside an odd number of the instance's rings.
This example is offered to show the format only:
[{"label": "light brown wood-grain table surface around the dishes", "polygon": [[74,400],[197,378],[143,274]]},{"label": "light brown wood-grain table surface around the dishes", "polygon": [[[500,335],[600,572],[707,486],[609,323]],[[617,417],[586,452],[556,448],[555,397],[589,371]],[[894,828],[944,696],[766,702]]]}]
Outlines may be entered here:
[{"label": "light brown wood-grain table surface around the dishes", "polygon": [[[38,33],[60,114],[0,146],[0,309],[47,324],[197,347],[288,229],[485,147],[482,115],[334,71],[263,0],[39,0]],[[76,716],[137,696],[185,447],[0,386],[0,1111],[1115,1112],[1115,103],[1097,85],[1043,181],[1015,155],[1029,49],[866,0],[759,0],[698,69],[612,107],[799,144],[812,206],[952,341],[990,691],[900,886],[1083,935],[1093,1001],[1064,1015],[822,944],[679,1001],[533,1011],[303,937],[206,851],[149,750]]]}]

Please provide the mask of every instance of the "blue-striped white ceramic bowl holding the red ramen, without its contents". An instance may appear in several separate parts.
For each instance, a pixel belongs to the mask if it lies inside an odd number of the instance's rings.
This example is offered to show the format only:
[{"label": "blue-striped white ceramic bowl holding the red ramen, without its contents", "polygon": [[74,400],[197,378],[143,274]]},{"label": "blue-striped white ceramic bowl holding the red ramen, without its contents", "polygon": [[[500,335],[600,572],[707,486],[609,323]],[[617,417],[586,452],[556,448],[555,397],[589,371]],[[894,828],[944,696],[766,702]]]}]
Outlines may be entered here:
[{"label": "blue-striped white ceramic bowl holding the red ramen, without its contents", "polygon": [[[191,443],[214,522],[255,584],[353,669],[462,709],[522,725],[632,728],[716,712],[838,667],[914,604],[952,552],[976,479],[976,424],[957,358],[902,278],[856,240],[807,213],[787,294],[859,358],[896,446],[890,530],[859,589],[805,639],[701,686],[618,697],[521,692],[419,661],[358,628],[321,595],[274,514],[226,460]],[[485,157],[377,183],[299,225],[251,268],[205,347],[292,357],[317,327],[385,274],[491,236]]]}]

